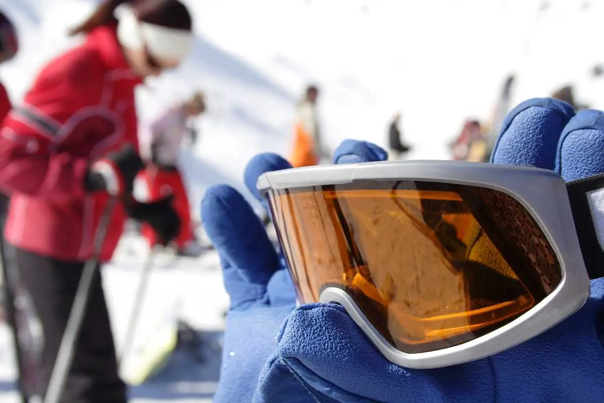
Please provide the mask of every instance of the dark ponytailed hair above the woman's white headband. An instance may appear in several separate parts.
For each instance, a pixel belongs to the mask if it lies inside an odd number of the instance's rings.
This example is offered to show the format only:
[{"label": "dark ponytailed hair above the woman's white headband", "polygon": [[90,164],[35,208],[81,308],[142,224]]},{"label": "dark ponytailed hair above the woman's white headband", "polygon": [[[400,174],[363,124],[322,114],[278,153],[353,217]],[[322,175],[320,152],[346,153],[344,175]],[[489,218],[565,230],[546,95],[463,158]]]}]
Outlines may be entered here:
[{"label": "dark ponytailed hair above the woman's white headband", "polygon": [[141,22],[177,30],[193,29],[191,15],[179,0],[104,0],[86,21],[70,30],[69,34],[89,33],[94,28],[115,23],[114,11],[121,4],[132,5]]}]

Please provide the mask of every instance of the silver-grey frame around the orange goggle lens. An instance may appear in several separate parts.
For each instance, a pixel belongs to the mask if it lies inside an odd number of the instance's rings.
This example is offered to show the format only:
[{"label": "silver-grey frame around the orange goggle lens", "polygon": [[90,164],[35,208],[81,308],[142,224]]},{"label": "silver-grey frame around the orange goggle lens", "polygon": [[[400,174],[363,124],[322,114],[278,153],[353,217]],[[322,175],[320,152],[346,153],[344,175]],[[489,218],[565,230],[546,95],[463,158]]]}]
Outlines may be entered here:
[{"label": "silver-grey frame around the orange goggle lens", "polygon": [[[347,184],[360,180],[431,181],[499,190],[524,206],[556,253],[562,269],[562,280],[550,295],[530,311],[489,334],[454,347],[405,353],[395,349],[377,332],[345,291],[330,287],[321,292],[320,301],[344,306],[388,361],[411,369],[431,369],[467,363],[510,349],[545,332],[583,306],[590,295],[590,277],[602,276],[602,272],[596,273],[594,270],[588,273],[586,267],[586,262],[590,262],[589,268],[594,265],[602,267],[603,252],[599,243],[590,241],[587,245],[583,242],[597,239],[593,224],[591,231],[581,229],[580,232],[585,232],[582,239],[579,239],[581,235],[577,235],[576,230],[576,223],[593,221],[588,193],[604,187],[602,176],[593,178],[574,186],[573,183],[567,184],[555,172],[532,167],[460,161],[388,161],[268,172],[260,176],[257,187],[264,194],[268,190]],[[595,257],[584,259],[586,251],[594,247],[597,248]]]}]

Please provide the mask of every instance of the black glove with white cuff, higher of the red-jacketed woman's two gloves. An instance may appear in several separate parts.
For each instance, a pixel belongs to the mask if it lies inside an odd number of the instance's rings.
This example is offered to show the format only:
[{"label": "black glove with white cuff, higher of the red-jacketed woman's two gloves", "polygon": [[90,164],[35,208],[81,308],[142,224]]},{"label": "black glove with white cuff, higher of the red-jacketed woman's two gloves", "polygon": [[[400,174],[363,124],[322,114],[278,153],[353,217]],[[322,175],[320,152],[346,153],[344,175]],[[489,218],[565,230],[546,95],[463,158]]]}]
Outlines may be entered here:
[{"label": "black glove with white cuff, higher of the red-jacketed woman's two gloves", "polygon": [[91,165],[84,187],[88,192],[104,190],[112,196],[130,195],[134,178],[143,167],[137,150],[126,144]]}]

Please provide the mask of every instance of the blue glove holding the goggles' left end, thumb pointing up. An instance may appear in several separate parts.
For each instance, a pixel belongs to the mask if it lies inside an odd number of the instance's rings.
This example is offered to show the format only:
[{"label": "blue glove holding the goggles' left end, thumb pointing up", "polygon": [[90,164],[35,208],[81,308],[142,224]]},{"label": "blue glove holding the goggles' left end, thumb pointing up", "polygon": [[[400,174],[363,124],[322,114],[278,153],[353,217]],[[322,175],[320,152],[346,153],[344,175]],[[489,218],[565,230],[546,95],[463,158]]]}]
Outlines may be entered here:
[{"label": "blue glove holding the goggles' left end, thumb pointing up", "polygon": [[[384,150],[373,144],[344,141],[335,152],[334,162],[386,158]],[[288,161],[272,153],[257,155],[248,163],[245,183],[265,208],[268,204],[256,188],[258,177],[288,168]],[[275,251],[260,219],[232,187],[217,185],[208,189],[201,217],[220,255],[225,288],[231,297],[214,402],[249,402],[266,359],[277,347],[281,324],[295,308],[294,285],[283,255]]]}]

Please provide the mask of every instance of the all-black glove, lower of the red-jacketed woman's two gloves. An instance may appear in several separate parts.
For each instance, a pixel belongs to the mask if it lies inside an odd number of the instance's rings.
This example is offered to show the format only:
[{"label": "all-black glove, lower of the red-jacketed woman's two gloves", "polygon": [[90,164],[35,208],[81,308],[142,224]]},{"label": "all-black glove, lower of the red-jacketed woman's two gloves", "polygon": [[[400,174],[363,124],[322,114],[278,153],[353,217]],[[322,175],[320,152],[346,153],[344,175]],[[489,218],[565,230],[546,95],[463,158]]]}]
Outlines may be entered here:
[{"label": "all-black glove, lower of the red-jacketed woman's two gloves", "polygon": [[181,221],[172,205],[173,199],[170,195],[142,203],[130,197],[126,198],[124,206],[130,218],[149,224],[158,237],[158,243],[165,246],[178,236],[181,227]]}]

